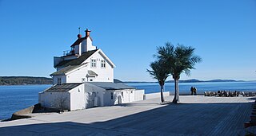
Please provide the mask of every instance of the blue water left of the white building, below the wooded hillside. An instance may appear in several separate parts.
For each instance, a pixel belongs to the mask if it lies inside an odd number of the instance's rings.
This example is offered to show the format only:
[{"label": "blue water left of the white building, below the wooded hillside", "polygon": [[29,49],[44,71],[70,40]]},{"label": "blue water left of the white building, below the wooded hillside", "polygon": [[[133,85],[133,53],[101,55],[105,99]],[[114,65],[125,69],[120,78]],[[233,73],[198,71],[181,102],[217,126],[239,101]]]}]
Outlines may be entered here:
[{"label": "blue water left of the white building, below the wooded hillside", "polygon": [[14,112],[38,103],[38,92],[47,87],[50,85],[0,86],[0,120],[9,119]]}]

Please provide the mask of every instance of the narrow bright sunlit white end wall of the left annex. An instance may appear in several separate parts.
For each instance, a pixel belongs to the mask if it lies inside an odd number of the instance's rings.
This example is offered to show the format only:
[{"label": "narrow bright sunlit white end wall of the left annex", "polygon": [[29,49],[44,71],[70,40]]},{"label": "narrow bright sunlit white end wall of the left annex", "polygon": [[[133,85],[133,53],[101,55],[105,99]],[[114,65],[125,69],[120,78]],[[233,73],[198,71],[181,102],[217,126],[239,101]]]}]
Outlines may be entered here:
[{"label": "narrow bright sunlit white end wall of the left annex", "polygon": [[70,90],[70,111],[82,110],[86,108],[84,84]]}]

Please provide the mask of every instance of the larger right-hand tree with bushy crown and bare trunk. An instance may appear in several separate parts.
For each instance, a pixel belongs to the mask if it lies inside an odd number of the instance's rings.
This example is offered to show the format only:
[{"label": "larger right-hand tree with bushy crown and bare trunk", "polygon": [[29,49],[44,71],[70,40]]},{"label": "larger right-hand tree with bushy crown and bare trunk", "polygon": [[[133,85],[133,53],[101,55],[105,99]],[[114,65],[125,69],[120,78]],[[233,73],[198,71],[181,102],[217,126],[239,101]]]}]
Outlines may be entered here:
[{"label": "larger right-hand tree with bushy crown and bare trunk", "polygon": [[164,61],[164,64],[173,76],[175,85],[174,103],[179,101],[178,80],[182,73],[190,76],[190,70],[194,69],[194,65],[201,62],[202,58],[194,54],[194,48],[191,46],[177,45],[176,47],[170,42],[165,46],[158,47],[157,58]]}]

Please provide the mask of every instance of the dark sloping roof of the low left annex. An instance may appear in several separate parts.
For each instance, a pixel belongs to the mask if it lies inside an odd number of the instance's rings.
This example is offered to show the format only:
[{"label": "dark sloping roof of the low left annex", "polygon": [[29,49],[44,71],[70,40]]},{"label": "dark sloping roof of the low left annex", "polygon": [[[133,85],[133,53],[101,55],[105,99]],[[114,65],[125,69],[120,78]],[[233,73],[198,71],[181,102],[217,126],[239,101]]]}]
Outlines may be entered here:
[{"label": "dark sloping roof of the low left annex", "polygon": [[[82,84],[82,83],[81,83]],[[46,89],[46,91],[70,91],[74,87],[78,87],[80,84],[55,84],[54,86]]]}]

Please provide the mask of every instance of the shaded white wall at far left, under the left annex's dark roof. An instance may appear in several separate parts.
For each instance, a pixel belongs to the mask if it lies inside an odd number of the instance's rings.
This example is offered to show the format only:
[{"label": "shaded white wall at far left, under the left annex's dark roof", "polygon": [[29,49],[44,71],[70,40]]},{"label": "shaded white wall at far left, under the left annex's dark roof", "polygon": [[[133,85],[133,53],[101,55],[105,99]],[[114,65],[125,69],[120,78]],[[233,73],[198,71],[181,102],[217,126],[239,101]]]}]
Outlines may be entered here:
[{"label": "shaded white wall at far left, under the left annex's dark roof", "polygon": [[[70,110],[70,93],[68,91],[42,91],[38,96],[42,107],[61,108]],[[61,106],[61,101],[64,104]]]}]

